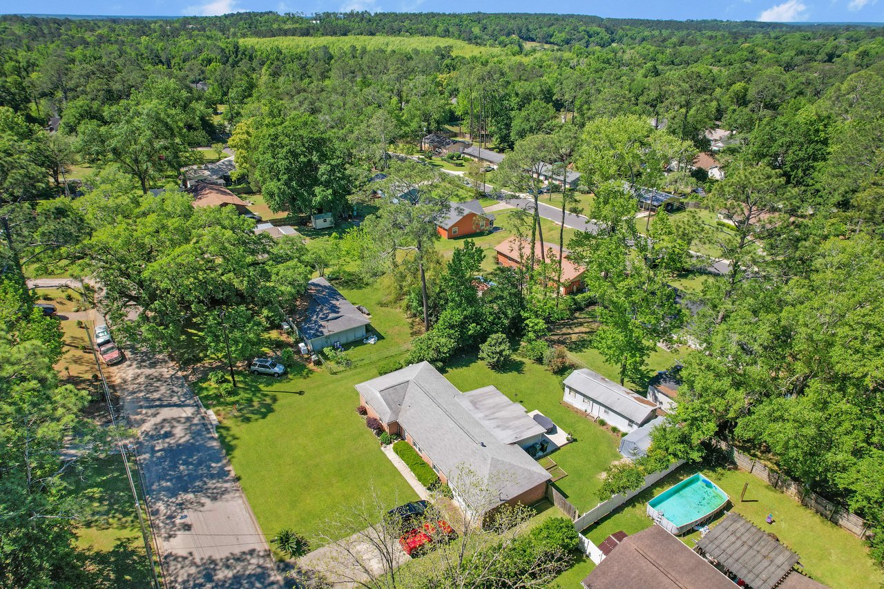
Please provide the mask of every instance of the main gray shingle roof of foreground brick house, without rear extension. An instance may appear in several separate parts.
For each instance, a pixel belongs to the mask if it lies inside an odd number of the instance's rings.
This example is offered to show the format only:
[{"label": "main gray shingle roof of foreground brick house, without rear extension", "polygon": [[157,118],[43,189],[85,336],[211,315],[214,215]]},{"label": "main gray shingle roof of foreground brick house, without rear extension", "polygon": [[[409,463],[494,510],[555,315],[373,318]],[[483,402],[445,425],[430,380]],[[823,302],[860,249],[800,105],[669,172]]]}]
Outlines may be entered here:
[{"label": "main gray shingle roof of foreground brick house, without rear extension", "polygon": [[502,503],[550,479],[521,447],[501,442],[480,423],[469,403],[461,402],[461,391],[430,363],[412,364],[356,390],[381,420],[399,422],[449,484],[469,470],[497,491]]}]

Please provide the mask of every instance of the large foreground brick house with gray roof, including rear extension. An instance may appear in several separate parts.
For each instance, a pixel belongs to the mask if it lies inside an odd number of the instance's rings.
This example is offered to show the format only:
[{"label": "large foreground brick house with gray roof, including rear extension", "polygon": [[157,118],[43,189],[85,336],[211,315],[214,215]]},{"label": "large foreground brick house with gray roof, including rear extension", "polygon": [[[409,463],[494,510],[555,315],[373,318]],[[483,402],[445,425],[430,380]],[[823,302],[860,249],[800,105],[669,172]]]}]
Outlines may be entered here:
[{"label": "large foreground brick house with gray roof, including rear extension", "polygon": [[408,441],[451,487],[462,509],[474,509],[470,495],[476,489],[459,489],[461,482],[494,493],[477,515],[545,496],[550,474],[523,449],[540,440],[545,428],[495,387],[461,393],[431,363],[422,362],[360,383],[356,390],[368,415]]}]

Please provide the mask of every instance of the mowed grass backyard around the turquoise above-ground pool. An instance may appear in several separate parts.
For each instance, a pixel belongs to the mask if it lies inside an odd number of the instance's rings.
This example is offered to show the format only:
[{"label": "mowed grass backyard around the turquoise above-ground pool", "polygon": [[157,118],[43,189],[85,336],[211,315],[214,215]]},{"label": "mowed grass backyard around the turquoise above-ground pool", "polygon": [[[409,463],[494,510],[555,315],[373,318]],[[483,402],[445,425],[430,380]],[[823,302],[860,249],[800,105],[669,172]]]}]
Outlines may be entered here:
[{"label": "mowed grass backyard around the turquoise above-ground pool", "polygon": [[[884,571],[869,557],[862,540],[744,470],[682,466],[597,524],[591,525],[583,534],[598,546],[613,532],[641,532],[653,524],[645,512],[647,502],[697,471],[703,472],[728,493],[733,503],[731,511],[739,513],[762,530],[775,533],[786,547],[799,555],[804,572],[810,577],[834,589],[871,589],[884,584]],[[741,502],[740,493],[745,483],[749,487],[746,501]],[[767,514],[773,514],[773,525],[766,524]],[[718,516],[715,522],[720,521],[721,517],[723,515]],[[699,532],[684,536],[682,541],[693,548],[695,539],[699,539]]]}]

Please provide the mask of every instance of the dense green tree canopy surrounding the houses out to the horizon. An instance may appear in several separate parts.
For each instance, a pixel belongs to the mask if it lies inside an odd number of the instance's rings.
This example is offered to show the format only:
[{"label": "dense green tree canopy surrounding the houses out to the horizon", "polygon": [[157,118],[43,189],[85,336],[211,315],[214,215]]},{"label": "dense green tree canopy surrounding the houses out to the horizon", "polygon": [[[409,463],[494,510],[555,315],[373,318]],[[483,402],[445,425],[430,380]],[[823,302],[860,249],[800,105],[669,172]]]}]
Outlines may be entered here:
[{"label": "dense green tree canopy surrounding the houses out to the horizon", "polygon": [[[343,35],[377,42],[293,41]],[[551,325],[588,304],[602,325],[592,345],[621,380],[639,379],[658,341],[690,339],[657,457],[699,459],[714,439],[763,456],[865,517],[884,560],[882,35],[524,14],[0,19],[0,585],[85,586],[59,516],[72,498],[52,483],[84,400],[51,371],[60,336],[30,311],[26,276],[95,277],[112,322],[149,311],[121,328],[130,343],[187,363],[194,324],[207,350],[223,345],[222,305],[233,355],[251,356],[309,276],[342,260],[392,277],[425,332],[412,361],[499,333],[541,360]],[[733,133],[716,152],[724,180],[689,165],[715,128]],[[432,219],[472,189],[390,154],[459,130],[506,153],[495,181],[535,202],[533,166],[582,173],[560,206],[593,195],[583,213],[598,232],[563,243],[590,270],[587,293],[560,296],[561,257],[532,254],[478,297],[481,252],[436,251]],[[233,180],[295,220],[371,204],[378,171],[412,206],[378,206],[312,248],[273,242],[177,191],[192,148],[217,142],[235,149]],[[80,164],[91,172],[71,191]],[[694,195],[718,220],[645,226],[634,194],[647,188]],[[536,210],[520,223],[532,243],[564,241]],[[686,295],[689,310],[668,284],[695,254],[728,267]]]}]

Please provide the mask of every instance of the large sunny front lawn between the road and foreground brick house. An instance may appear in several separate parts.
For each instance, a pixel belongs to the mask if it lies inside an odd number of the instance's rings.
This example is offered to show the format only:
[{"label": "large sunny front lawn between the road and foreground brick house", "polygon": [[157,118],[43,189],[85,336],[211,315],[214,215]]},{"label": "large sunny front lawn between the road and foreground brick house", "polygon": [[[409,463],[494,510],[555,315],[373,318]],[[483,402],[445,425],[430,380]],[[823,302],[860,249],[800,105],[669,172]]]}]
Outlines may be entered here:
[{"label": "large sunny front lawn between the road and foreground brick house", "polygon": [[[341,290],[369,308],[384,336],[375,346],[354,348],[354,356],[408,340],[408,321],[379,305],[377,287]],[[339,374],[299,364],[292,372],[279,380],[242,374],[238,394],[226,399],[210,386],[197,386],[203,402],[217,409],[218,435],[267,538],[291,527],[316,539],[329,529],[327,519],[357,507],[372,492],[391,507],[415,500],[354,410],[359,399],[354,385],[375,378],[377,364]]]}]

